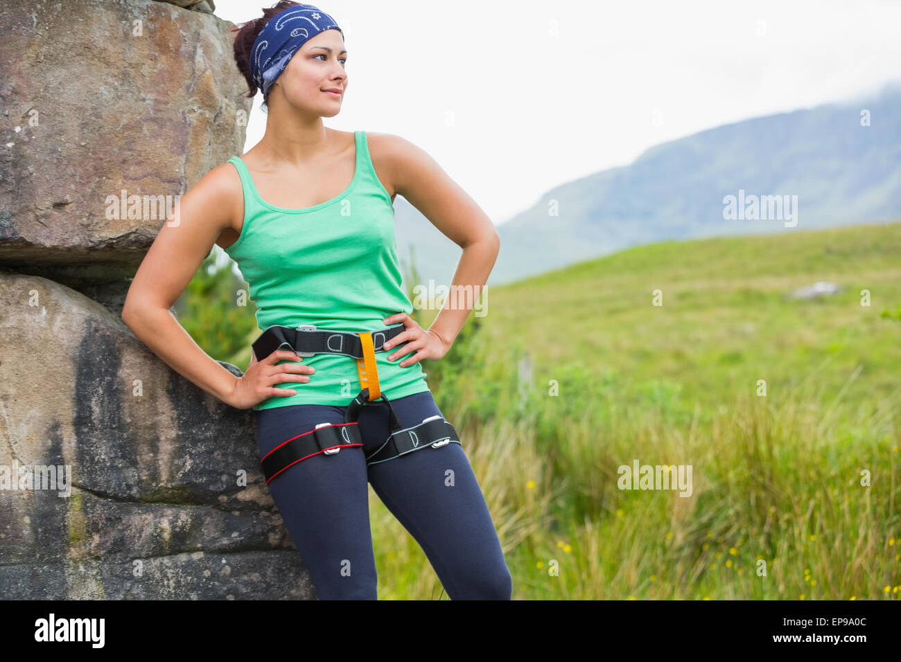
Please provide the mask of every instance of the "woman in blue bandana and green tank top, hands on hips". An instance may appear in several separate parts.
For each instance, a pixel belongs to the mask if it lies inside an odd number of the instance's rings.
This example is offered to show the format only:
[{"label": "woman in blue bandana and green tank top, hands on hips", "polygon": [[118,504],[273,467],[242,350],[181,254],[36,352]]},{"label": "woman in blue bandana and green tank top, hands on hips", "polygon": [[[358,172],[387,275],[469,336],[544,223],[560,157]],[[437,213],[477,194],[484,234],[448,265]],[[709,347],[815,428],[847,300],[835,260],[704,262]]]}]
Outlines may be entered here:
[{"label": "woman in blue bandana and green tank top, hands on hips", "polygon": [[[343,32],[328,14],[279,2],[241,26],[234,52],[250,95],[263,93],[266,134],[182,197],[177,222],[163,225],[134,277],[123,321],[179,374],[225,403],[254,409],[261,459],[288,441],[313,439],[307,435],[317,425],[345,423],[354,394],[378,372],[375,392],[384,397],[364,402],[357,427],[348,427],[361,443],[267,476],[320,599],[376,599],[368,481],[423,548],[451,599],[510,599],[510,571],[459,442],[367,461],[398,425],[443,418],[419,361],[442,358],[469,313],[444,308],[428,330],[409,317],[395,195],[463,249],[454,285],[485,285],[499,247],[493,223],[410,142],[323,126],[323,117],[341,110],[348,86]],[[377,353],[369,347],[366,360],[374,364],[365,371],[349,355],[300,357],[290,343],[273,350],[278,340],[258,360],[254,342],[247,372],[235,377],[169,313],[214,243],[250,284],[260,329],[312,325],[360,339],[387,326],[402,332]]]}]

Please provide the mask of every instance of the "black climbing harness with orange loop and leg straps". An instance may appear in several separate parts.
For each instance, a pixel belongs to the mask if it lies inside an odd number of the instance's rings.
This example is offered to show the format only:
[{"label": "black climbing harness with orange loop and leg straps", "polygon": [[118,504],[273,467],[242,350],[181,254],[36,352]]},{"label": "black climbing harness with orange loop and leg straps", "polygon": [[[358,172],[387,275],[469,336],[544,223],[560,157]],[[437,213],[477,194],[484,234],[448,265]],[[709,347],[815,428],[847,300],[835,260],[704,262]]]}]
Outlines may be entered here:
[{"label": "black climbing harness with orange loop and leg straps", "polygon": [[[270,450],[260,462],[268,484],[273,478],[292,465],[314,455],[334,455],[341,449],[362,447],[359,433],[360,410],[367,404],[382,400],[388,405],[391,430],[387,440],[366,456],[366,464],[374,465],[399,458],[414,450],[439,449],[453,442],[460,444],[460,437],[451,422],[442,416],[430,416],[423,422],[405,428],[378,384],[376,352],[386,351],[385,343],[404,331],[403,324],[385,327],[378,331],[332,331],[316,329],[313,324],[296,328],[270,326],[253,341],[253,352],[258,361],[277,349],[293,351],[299,357],[314,354],[343,354],[357,359],[357,374],[362,390],[350,401],[344,413],[343,423],[318,423],[311,431],[292,437]],[[460,444],[462,446],[462,444]]]}]

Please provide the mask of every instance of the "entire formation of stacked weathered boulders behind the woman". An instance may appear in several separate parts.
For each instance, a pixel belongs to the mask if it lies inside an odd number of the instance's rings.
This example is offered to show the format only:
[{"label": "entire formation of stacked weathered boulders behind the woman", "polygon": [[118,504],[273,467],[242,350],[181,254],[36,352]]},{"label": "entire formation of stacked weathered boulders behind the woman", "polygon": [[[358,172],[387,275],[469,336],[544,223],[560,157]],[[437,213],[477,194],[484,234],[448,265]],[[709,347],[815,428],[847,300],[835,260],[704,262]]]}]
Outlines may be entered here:
[{"label": "entire formation of stacked weathered boulders behind the woman", "polygon": [[167,217],[132,202],[243,151],[251,101],[213,9],[0,4],[2,598],[315,597],[253,413],[119,318]]}]

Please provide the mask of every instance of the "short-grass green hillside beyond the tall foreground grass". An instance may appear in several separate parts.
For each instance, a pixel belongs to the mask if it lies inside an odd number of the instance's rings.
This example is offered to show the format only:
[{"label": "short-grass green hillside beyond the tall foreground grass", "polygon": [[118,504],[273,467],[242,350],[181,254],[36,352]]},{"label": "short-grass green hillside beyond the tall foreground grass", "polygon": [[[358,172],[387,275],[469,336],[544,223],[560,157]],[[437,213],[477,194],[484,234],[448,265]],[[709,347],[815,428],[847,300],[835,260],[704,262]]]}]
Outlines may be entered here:
[{"label": "short-grass green hillside beyond the tall foreground grass", "polygon": [[[816,281],[844,290],[786,298]],[[528,347],[536,386],[569,365],[634,390],[633,404],[675,398],[688,413],[758,379],[771,398],[805,382],[824,395],[846,387],[848,403],[898,394],[901,327],[879,313],[901,302],[901,223],[665,241],[488,295],[490,337]]]}]

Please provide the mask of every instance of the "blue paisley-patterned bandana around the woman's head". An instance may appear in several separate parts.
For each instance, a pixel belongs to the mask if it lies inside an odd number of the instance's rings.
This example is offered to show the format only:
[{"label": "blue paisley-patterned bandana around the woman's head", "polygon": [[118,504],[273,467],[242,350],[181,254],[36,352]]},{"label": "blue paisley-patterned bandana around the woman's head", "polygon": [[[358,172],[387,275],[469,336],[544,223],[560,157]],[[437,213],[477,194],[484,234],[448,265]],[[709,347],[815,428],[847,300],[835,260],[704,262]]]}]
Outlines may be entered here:
[{"label": "blue paisley-patterned bandana around the woman's head", "polygon": [[263,91],[264,99],[297,49],[320,32],[332,29],[344,36],[338,23],[313,5],[288,7],[268,20],[250,50],[250,76]]}]

